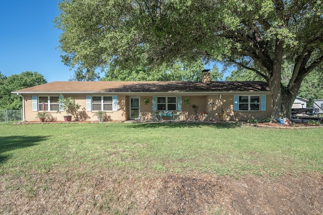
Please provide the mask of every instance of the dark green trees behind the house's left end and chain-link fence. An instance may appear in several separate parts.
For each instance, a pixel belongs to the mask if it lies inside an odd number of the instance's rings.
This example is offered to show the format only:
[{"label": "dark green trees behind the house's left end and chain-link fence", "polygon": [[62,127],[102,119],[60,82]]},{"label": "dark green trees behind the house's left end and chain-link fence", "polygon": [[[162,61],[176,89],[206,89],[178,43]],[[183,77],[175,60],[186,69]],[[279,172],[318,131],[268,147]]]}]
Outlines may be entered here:
[{"label": "dark green trees behind the house's left end and chain-link fence", "polygon": [[41,74],[32,71],[25,71],[8,78],[0,73],[0,80],[0,109],[5,110],[22,109],[21,97],[11,92],[47,83]]}]

